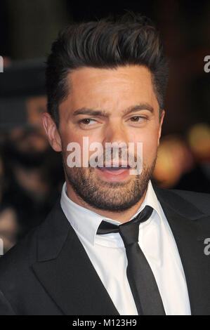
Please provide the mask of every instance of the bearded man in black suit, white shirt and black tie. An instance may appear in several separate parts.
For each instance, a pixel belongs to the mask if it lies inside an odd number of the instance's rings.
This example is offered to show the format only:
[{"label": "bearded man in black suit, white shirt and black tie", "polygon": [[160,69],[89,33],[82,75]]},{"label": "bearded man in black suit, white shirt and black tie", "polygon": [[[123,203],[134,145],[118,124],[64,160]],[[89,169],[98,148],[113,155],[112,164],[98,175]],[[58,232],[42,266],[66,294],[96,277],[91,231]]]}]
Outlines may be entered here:
[{"label": "bearded man in black suit, white shirt and black tie", "polygon": [[[209,195],[150,181],[166,80],[141,16],[71,25],[54,42],[43,123],[66,182],[1,258],[1,315],[210,315]],[[134,147],[116,155],[109,143]]]}]

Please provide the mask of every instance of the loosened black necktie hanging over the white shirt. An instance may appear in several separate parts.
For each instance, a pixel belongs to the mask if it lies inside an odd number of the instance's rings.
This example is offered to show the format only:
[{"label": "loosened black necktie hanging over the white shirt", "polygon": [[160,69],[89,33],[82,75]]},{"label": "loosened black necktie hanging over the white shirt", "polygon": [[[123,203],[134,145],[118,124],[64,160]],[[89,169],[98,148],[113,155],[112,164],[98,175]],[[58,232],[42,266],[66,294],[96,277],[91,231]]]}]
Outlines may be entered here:
[{"label": "loosened black necktie hanging over the white shirt", "polygon": [[165,315],[155,277],[138,244],[139,224],[150,218],[152,211],[152,207],[145,206],[136,218],[119,226],[102,221],[97,231],[99,235],[119,232],[122,237],[128,259],[127,277],[138,315]]}]

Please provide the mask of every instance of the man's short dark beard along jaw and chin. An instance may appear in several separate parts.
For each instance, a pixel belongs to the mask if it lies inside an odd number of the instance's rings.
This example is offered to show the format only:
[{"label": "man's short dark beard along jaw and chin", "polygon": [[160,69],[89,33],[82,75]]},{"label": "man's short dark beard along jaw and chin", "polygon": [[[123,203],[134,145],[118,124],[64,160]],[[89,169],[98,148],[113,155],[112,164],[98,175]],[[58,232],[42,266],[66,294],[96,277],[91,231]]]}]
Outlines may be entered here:
[{"label": "man's short dark beard along jaw and chin", "polygon": [[147,189],[148,182],[155,168],[156,159],[152,166],[143,166],[140,175],[131,176],[126,182],[96,181],[94,168],[88,167],[88,174],[83,168],[66,168],[67,180],[79,199],[95,209],[108,211],[125,211],[137,204]]}]

